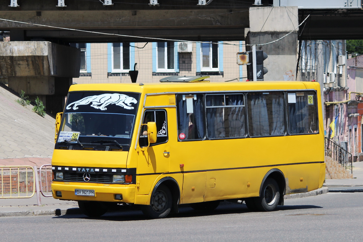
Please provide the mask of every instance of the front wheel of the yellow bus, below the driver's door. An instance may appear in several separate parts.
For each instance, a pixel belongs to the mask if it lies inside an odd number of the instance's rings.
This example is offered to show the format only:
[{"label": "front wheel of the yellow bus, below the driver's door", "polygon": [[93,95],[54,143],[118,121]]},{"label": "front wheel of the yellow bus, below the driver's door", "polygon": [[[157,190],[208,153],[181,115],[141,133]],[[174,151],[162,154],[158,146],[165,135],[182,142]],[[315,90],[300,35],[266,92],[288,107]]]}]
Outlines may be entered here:
[{"label": "front wheel of the yellow bus, below the driver's door", "polygon": [[149,218],[165,218],[171,211],[172,202],[169,188],[159,185],[152,192],[150,205],[144,205],[142,212]]}]

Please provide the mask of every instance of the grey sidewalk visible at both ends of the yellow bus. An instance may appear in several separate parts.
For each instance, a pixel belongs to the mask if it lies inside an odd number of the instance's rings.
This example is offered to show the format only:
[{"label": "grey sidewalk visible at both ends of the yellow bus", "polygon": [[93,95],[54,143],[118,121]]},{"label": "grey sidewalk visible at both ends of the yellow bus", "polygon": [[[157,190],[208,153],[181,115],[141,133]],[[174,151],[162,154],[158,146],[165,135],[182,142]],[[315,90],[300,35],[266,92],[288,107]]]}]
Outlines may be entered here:
[{"label": "grey sidewalk visible at both ends of the yellow bus", "polygon": [[[285,199],[316,196],[330,192],[363,192],[363,161],[353,163],[353,179],[328,179],[322,188],[306,192],[285,195]],[[5,195],[4,195],[5,196]],[[1,198],[0,217],[79,214],[78,203],[62,201],[53,197],[41,196],[41,206],[37,205],[36,194],[32,198]]]}]

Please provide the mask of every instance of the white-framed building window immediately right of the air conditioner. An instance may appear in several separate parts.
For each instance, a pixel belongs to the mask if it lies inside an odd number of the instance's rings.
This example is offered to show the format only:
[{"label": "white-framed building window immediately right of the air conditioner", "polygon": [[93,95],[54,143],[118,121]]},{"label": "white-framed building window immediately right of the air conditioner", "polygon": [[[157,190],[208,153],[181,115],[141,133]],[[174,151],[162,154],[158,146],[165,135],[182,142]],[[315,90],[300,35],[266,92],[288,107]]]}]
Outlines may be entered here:
[{"label": "white-framed building window immediately right of the air conditioner", "polygon": [[218,44],[201,43],[201,70],[219,70]]}]

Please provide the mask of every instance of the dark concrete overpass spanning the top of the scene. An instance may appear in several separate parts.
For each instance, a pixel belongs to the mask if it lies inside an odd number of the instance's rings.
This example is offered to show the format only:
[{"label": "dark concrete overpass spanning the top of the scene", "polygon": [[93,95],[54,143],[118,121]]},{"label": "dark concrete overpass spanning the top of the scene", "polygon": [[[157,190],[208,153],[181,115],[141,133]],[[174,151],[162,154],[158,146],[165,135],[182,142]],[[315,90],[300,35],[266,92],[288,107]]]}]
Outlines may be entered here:
[{"label": "dark concrete overpass spanning the top of the scene", "polygon": [[[16,1],[18,7],[9,7]],[[105,2],[104,0],[102,0]],[[298,7],[299,21],[311,15],[299,28],[299,39],[363,38],[361,0],[134,0],[132,3],[68,0],[0,0],[1,19],[129,36],[177,40],[244,40],[250,27],[250,7]],[[63,2],[64,7],[57,7]],[[131,1],[130,1],[131,2]],[[208,2],[208,1],[207,1]],[[344,3],[348,2],[348,3]],[[261,3],[261,5],[257,5]],[[266,16],[260,16],[265,20]],[[253,24],[253,23],[251,23]],[[46,40],[69,42],[144,42],[146,39],[0,21],[0,30],[10,30],[12,41]]]}]

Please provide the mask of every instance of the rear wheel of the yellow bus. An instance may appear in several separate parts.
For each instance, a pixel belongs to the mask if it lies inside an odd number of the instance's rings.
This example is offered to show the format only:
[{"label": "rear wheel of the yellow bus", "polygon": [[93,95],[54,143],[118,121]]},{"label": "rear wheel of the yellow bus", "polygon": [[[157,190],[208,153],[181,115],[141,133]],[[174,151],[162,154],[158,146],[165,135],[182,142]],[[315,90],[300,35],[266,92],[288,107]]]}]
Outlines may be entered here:
[{"label": "rear wheel of the yellow bus", "polygon": [[266,179],[262,185],[260,197],[254,197],[253,200],[258,211],[269,212],[276,209],[280,201],[280,189],[276,180]]}]

